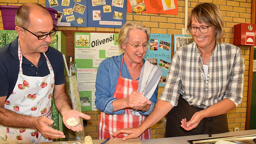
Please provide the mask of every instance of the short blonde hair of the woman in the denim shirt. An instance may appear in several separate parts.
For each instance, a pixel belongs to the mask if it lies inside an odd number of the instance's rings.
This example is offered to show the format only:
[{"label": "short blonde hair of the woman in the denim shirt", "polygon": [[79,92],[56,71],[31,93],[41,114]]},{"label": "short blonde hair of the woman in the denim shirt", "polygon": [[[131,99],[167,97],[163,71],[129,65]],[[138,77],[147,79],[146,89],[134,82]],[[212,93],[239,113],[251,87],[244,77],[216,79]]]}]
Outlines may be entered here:
[{"label": "short blonde hair of the woman in the denim shirt", "polygon": [[126,44],[129,41],[129,31],[132,29],[138,29],[138,30],[145,31],[146,35],[147,35],[147,41],[149,41],[150,30],[148,27],[146,27],[143,24],[138,23],[138,22],[126,22],[120,29],[119,38],[118,38],[119,49],[122,52],[124,52],[122,45]]}]

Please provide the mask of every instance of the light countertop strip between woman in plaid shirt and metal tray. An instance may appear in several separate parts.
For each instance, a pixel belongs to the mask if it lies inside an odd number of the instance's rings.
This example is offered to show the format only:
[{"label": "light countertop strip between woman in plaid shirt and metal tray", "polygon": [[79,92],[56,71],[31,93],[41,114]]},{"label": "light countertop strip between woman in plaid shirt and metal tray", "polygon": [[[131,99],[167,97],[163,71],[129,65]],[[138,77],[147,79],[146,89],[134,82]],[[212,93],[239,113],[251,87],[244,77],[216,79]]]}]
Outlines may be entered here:
[{"label": "light countertop strip between woman in plaid shirt and metal tray", "polygon": [[148,139],[148,140],[141,140],[141,142],[142,144],[170,144],[170,143],[171,144],[189,144],[187,140],[208,139],[208,138],[216,138],[216,137],[250,135],[250,134],[256,134],[256,129],[213,134],[212,137],[208,137],[208,134],[204,134],[204,135],[182,136],[182,137],[172,137],[172,138]]}]

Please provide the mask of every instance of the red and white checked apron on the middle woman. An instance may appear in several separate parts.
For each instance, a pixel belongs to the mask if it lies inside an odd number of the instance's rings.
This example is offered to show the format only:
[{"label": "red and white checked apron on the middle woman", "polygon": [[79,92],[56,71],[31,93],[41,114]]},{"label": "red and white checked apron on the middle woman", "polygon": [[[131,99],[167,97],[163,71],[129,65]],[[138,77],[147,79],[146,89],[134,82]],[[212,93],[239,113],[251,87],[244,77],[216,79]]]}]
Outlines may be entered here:
[{"label": "red and white checked apron on the middle woman", "polygon": [[[124,58],[123,58],[124,59]],[[123,60],[121,63],[122,70]],[[139,80],[131,80],[121,77],[121,70],[117,81],[114,98],[128,98],[133,91],[138,90]],[[124,114],[109,115],[104,112],[100,113],[98,124],[98,139],[115,138],[112,134],[119,129],[138,127],[146,119],[146,116],[135,116],[131,109],[124,109]],[[128,134],[120,133],[116,138],[123,138]],[[151,139],[151,128],[147,129],[139,136],[139,139]]]}]

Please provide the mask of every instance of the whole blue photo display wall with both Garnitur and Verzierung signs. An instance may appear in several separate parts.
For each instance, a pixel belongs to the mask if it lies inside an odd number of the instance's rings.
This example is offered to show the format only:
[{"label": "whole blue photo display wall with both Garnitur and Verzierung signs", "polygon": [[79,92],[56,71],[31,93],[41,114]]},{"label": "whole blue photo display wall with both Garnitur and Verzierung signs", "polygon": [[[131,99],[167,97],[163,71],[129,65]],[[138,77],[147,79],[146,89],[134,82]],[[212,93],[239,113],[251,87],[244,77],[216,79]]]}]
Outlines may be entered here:
[{"label": "whole blue photo display wall with both Garnitur and Verzierung signs", "polygon": [[126,22],[126,0],[45,0],[57,10],[57,26],[121,28]]}]

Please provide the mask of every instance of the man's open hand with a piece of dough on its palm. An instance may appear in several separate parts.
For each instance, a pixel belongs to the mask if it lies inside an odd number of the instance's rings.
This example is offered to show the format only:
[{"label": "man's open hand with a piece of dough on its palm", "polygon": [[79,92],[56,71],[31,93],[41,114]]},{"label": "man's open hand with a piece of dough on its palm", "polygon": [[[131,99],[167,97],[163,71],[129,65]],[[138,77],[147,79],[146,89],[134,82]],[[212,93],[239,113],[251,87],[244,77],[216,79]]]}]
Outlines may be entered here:
[{"label": "man's open hand with a piece of dough on its palm", "polygon": [[[73,131],[78,131],[78,132],[83,130],[83,126],[80,123],[80,117],[83,117],[84,119],[90,119],[91,118],[90,116],[88,116],[88,115],[86,115],[82,112],[79,112],[77,110],[74,110],[74,109],[69,110],[67,112],[64,112],[62,116],[63,116],[62,119],[63,119],[63,122],[64,122],[65,126],[68,129],[71,129]],[[69,119],[69,118],[75,118],[78,121],[78,125],[72,126],[72,127],[67,125],[66,120]]]}]

